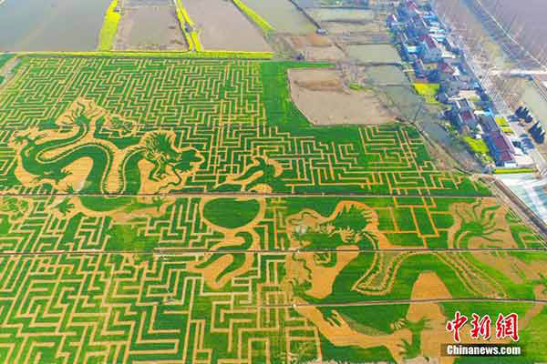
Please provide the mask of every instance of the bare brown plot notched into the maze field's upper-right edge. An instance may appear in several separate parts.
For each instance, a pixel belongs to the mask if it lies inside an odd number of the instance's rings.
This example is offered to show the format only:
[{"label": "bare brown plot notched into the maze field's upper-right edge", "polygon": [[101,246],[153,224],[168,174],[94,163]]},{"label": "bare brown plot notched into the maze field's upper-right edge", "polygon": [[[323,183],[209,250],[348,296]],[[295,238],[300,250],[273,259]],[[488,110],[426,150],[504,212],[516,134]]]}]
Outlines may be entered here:
[{"label": "bare brown plot notched into the maze field's upper-right edge", "polygon": [[289,70],[294,104],[315,125],[386,124],[394,120],[372,91],[344,86],[333,69]]}]

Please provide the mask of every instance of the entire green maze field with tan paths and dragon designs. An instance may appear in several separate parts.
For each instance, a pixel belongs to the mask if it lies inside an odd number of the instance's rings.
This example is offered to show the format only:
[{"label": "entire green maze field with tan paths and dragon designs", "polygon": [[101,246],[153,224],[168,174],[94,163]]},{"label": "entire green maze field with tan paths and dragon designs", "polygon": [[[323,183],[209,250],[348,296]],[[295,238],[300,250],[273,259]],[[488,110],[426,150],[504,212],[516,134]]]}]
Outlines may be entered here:
[{"label": "entire green maze field with tan paths and dragon designs", "polygon": [[[533,332],[545,316],[531,302],[547,288],[541,238],[476,197],[488,194],[478,184],[437,170],[412,128],[273,122],[261,72],[22,61],[0,92],[0,362],[434,357],[420,342],[446,334],[455,306],[428,303],[437,316],[411,333],[419,309],[394,302],[420,297],[525,299],[481,309],[518,310]],[[59,122],[80,106],[88,118]],[[184,160],[158,162],[186,152],[200,162],[184,178],[170,175]],[[115,167],[86,171],[108,157]],[[154,173],[165,180],[149,184],[167,189],[128,187]],[[108,184],[118,193],[104,196]],[[173,196],[189,192],[228,194]],[[353,193],[415,197],[336,197]]]}]

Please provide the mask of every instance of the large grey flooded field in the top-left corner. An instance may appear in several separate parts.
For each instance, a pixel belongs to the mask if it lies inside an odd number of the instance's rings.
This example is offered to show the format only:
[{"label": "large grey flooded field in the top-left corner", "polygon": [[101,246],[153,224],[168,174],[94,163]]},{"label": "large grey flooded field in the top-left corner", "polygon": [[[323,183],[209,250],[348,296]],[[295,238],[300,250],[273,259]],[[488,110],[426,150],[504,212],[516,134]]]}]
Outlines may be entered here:
[{"label": "large grey flooded field in the top-left corner", "polygon": [[94,50],[110,0],[5,0],[0,51]]}]

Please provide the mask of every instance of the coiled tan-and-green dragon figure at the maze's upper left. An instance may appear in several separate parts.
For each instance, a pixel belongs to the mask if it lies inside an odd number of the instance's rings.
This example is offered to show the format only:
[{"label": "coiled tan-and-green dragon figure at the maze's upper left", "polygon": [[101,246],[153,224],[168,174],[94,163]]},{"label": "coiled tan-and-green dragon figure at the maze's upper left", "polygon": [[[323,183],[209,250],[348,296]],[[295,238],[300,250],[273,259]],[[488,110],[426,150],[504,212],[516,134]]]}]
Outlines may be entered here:
[{"label": "coiled tan-and-green dragon figure at the maze's upper left", "polygon": [[160,212],[159,195],[185,186],[204,159],[192,147],[175,147],[172,132],[137,131],[133,122],[78,99],[55,127],[15,133],[15,177],[25,187],[50,184],[66,193],[56,204],[64,217]]}]

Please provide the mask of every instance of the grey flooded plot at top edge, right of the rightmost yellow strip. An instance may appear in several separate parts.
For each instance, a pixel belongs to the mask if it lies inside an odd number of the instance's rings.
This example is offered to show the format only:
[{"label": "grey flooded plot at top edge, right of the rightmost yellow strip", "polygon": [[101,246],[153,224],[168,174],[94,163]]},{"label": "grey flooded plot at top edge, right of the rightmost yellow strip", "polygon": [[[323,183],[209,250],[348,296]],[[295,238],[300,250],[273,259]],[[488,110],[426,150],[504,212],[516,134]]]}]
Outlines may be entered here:
[{"label": "grey flooded plot at top edge, right of the rightmost yellow strip", "polygon": [[315,25],[289,0],[245,0],[280,33],[304,35],[315,32]]}]

